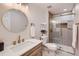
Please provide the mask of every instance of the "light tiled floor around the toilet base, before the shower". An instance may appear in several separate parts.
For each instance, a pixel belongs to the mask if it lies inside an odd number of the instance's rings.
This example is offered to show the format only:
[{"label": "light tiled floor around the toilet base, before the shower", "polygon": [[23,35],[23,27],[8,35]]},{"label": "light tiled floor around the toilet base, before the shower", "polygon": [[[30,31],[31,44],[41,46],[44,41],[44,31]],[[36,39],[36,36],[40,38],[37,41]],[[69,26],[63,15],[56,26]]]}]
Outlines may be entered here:
[{"label": "light tiled floor around the toilet base, before the shower", "polygon": [[47,48],[43,49],[43,56],[73,56],[72,48],[61,46],[62,50],[57,50],[57,53],[54,53],[51,50],[48,50]]}]

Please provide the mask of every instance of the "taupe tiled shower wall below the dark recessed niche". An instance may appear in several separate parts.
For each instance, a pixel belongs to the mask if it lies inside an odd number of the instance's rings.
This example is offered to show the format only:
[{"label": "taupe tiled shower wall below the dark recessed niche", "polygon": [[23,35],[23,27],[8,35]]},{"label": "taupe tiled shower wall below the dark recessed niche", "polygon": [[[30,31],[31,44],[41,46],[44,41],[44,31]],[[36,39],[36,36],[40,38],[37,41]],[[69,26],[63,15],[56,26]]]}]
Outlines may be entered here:
[{"label": "taupe tiled shower wall below the dark recessed niche", "polygon": [[[61,35],[62,32],[62,35]],[[52,42],[58,44],[64,44],[67,46],[72,46],[72,30],[68,28],[59,29],[59,31],[54,31],[51,33]]]}]

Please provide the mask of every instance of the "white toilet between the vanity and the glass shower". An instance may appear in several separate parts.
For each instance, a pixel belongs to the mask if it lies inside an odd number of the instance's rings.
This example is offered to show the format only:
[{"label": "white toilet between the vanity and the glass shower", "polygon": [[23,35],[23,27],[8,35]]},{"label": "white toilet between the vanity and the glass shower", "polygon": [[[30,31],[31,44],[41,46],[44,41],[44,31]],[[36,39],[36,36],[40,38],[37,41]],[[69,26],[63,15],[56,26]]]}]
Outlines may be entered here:
[{"label": "white toilet between the vanity and the glass shower", "polygon": [[48,50],[56,53],[58,50],[58,45],[55,43],[48,43],[48,37],[46,35],[41,36],[41,40],[43,41],[44,47],[46,47]]}]

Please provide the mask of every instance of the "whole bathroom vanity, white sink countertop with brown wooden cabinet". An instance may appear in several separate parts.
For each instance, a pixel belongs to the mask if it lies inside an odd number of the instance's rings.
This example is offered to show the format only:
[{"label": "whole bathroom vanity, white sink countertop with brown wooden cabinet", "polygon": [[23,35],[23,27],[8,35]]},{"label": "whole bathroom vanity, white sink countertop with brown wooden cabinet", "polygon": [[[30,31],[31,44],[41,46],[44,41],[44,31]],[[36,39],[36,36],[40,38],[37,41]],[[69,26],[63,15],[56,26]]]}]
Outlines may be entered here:
[{"label": "whole bathroom vanity, white sink countertop with brown wooden cabinet", "polygon": [[8,47],[0,56],[42,56],[42,41],[28,39],[24,43]]}]

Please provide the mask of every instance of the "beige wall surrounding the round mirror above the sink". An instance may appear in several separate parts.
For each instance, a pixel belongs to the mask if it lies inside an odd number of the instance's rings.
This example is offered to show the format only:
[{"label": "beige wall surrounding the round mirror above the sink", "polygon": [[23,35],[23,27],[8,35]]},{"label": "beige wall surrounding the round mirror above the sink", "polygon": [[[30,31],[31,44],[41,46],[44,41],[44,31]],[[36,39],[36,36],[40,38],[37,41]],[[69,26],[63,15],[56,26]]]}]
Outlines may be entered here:
[{"label": "beige wall surrounding the round mirror above the sink", "polygon": [[[29,11],[27,8],[25,8],[23,6],[18,6],[16,4],[11,5],[11,6],[9,6],[9,4],[8,5],[0,4],[0,16],[2,17],[3,13],[6,10],[11,9],[11,8],[19,9],[19,10],[23,11],[27,15],[27,17],[29,16],[28,15]],[[13,41],[18,40],[19,35],[21,36],[21,38],[29,39],[29,36],[30,36],[29,24],[28,24],[28,27],[23,32],[12,33],[12,32],[7,31],[1,25],[1,17],[0,17],[0,40],[3,40],[5,42],[5,47],[11,45]],[[29,19],[29,17],[28,17],[28,19]]]}]

